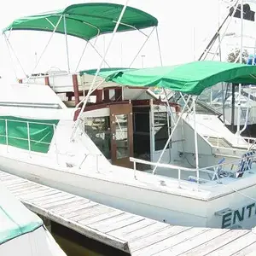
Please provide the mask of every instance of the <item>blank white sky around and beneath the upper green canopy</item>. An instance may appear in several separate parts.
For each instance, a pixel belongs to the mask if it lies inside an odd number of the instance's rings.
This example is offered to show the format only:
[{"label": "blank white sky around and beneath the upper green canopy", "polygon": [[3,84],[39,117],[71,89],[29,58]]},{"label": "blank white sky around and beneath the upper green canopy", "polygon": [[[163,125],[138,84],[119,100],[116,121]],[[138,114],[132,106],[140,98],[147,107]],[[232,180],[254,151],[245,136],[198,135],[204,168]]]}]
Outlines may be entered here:
[{"label": "blank white sky around and beneath the upper green canopy", "polygon": [[[160,38],[160,49],[163,65],[174,65],[198,59],[202,50],[206,47],[214,32],[218,29],[218,18],[223,19],[226,14],[226,4],[221,3],[220,11],[218,1],[223,0],[130,0],[128,5],[154,15],[159,20],[158,32]],[[228,1],[228,0],[224,0]],[[75,3],[99,2],[79,1]],[[104,1],[108,3],[122,3],[124,0]],[[4,10],[0,16],[0,24],[3,29],[9,26],[13,20],[25,15],[33,15],[53,9],[63,9],[73,1],[44,0],[32,1],[22,0],[5,1]],[[238,21],[239,22],[239,21]],[[234,27],[240,26],[233,24]],[[232,30],[232,27],[231,27]],[[145,30],[149,34],[150,29]],[[9,41],[19,57],[20,63],[26,73],[44,73],[49,68],[67,70],[67,55],[65,37],[55,34],[49,47],[41,58],[38,67],[34,66],[51,34],[49,32],[11,32]],[[107,48],[110,36],[102,36],[97,39],[96,49],[103,54]],[[237,44],[237,38],[225,39],[227,44]],[[145,37],[139,32],[121,32],[113,38],[106,60],[111,67],[129,67],[137,51],[141,48]],[[251,40],[251,39],[250,39]],[[85,41],[79,38],[68,37],[68,50],[70,56],[71,71],[75,71],[80,55],[84,49]],[[233,42],[234,41],[234,42]],[[253,40],[254,42],[254,40]],[[250,42],[251,44],[252,42]],[[252,43],[254,44],[254,43]],[[104,47],[105,45],[105,47]],[[18,62],[13,55],[13,65],[9,56],[9,50],[3,36],[0,38],[0,75],[3,79],[15,80],[24,77]],[[233,47],[233,46],[229,46]],[[144,57],[142,57],[144,55]],[[101,59],[95,51],[88,47],[80,63],[79,70],[97,68]],[[156,33],[148,39],[140,55],[131,67],[154,67],[160,66],[160,56]]]}]

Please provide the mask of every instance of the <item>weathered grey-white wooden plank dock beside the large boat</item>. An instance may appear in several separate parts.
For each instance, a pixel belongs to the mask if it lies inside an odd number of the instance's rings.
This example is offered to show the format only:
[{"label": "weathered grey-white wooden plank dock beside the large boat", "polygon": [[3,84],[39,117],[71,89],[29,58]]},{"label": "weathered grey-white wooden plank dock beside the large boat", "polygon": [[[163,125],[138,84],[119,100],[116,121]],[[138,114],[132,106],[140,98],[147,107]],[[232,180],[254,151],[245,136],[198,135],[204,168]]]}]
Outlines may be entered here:
[{"label": "weathered grey-white wooden plank dock beside the large boat", "polygon": [[0,181],[32,212],[133,256],[256,255],[252,230],[173,226],[6,172]]}]

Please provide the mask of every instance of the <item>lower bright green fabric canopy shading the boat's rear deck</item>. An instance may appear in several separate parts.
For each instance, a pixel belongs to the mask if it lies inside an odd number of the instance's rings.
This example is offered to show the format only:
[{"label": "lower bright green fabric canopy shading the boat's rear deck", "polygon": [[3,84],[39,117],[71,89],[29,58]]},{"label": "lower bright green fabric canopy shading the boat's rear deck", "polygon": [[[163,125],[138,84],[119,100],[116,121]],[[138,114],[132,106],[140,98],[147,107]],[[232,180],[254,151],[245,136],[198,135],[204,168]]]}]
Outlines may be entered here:
[{"label": "lower bright green fabric canopy shading the boat's rear deck", "polygon": [[[96,70],[82,73],[95,74]],[[117,84],[154,86],[200,95],[203,90],[228,82],[256,84],[256,66],[220,61],[195,61],[172,67],[143,69],[102,69],[99,76]]]}]

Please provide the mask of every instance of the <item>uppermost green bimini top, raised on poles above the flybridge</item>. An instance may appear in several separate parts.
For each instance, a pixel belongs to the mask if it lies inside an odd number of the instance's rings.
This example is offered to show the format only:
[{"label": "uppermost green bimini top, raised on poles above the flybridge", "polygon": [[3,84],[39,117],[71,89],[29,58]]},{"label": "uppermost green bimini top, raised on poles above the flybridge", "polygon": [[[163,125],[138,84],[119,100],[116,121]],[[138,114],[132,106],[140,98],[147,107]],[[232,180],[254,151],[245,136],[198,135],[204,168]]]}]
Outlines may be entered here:
[{"label": "uppermost green bimini top, raised on poles above the flybridge", "polygon": [[[27,16],[13,21],[3,30],[35,30],[53,32],[61,16],[65,15],[67,34],[90,40],[104,33],[113,32],[123,9],[121,4],[113,3],[80,3],[66,9],[51,11],[39,15]],[[142,10],[127,7],[119,24],[118,32],[139,30],[157,26],[158,20]],[[61,20],[55,32],[65,33],[64,21]]]}]

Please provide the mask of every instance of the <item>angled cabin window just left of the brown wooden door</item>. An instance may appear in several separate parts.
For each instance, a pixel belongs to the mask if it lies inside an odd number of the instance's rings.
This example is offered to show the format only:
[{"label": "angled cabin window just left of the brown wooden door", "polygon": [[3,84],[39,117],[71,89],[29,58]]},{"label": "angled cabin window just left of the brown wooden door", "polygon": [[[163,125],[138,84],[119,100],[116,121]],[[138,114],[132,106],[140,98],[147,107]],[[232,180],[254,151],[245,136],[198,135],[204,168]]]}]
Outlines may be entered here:
[{"label": "angled cabin window just left of the brown wooden door", "polygon": [[111,159],[111,132],[109,116],[84,119],[84,131],[107,159]]}]

